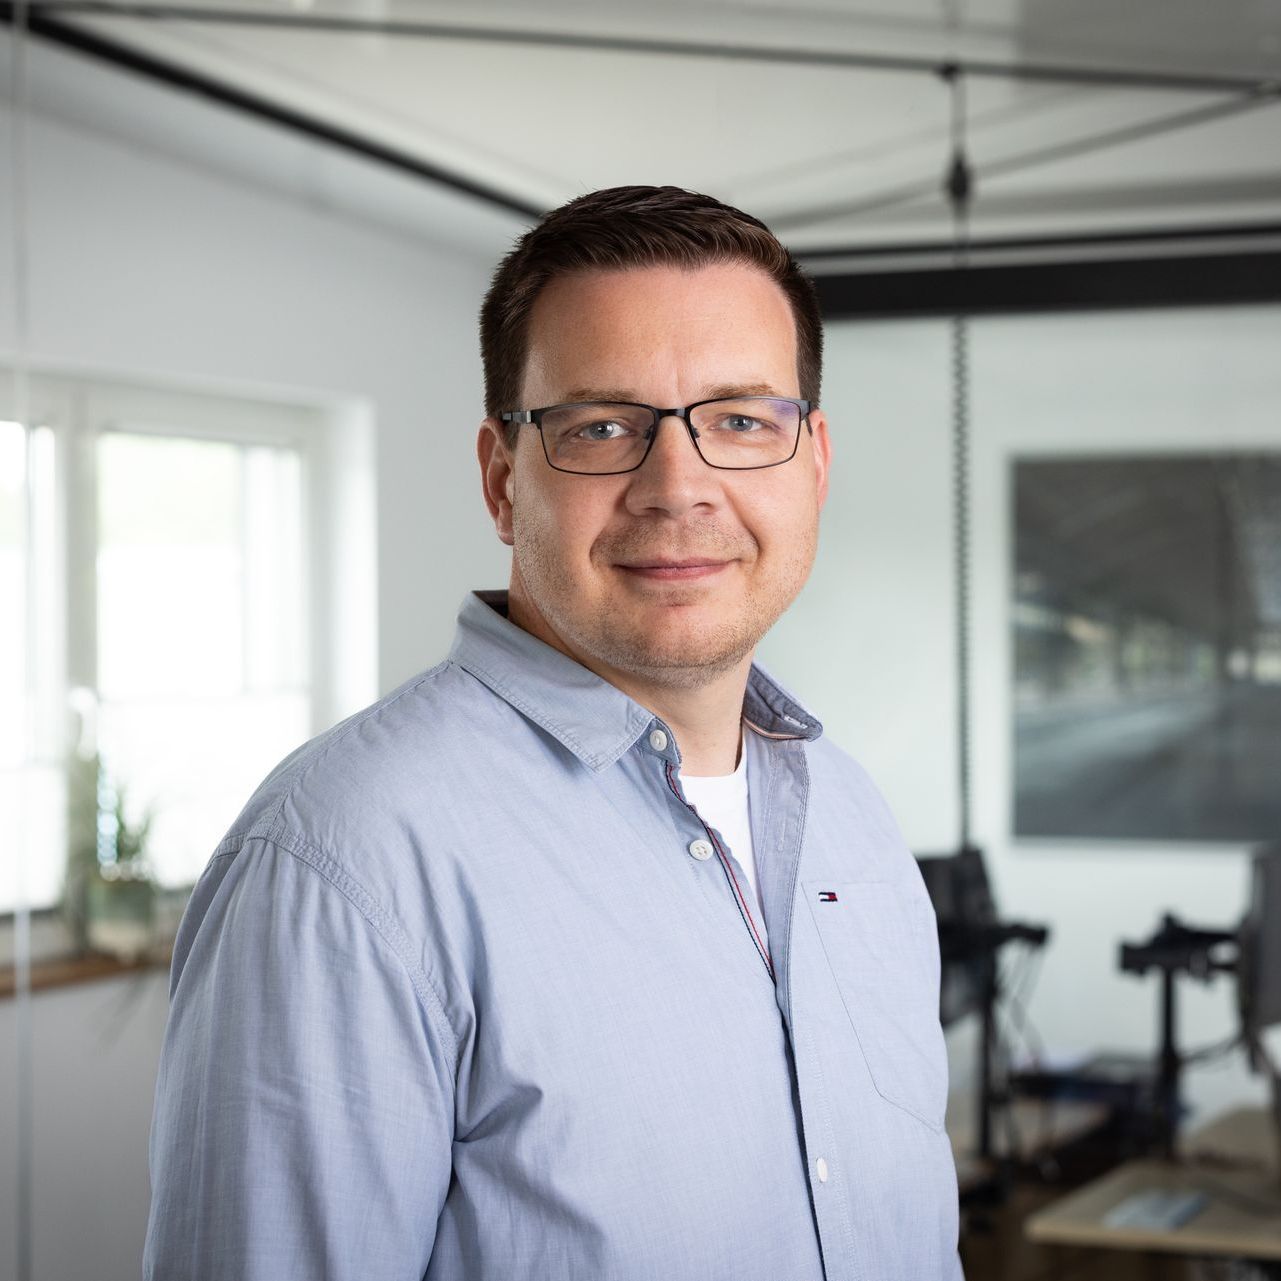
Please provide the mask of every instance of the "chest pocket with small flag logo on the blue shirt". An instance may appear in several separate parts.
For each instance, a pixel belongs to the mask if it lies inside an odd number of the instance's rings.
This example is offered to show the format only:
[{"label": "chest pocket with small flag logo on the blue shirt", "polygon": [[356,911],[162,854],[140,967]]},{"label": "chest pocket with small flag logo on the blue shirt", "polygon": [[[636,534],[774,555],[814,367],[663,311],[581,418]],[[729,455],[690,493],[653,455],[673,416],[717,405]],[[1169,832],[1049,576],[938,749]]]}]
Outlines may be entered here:
[{"label": "chest pocket with small flag logo on the blue shirt", "polygon": [[911,881],[803,888],[876,1093],[942,1131],[948,1066],[929,899]]}]

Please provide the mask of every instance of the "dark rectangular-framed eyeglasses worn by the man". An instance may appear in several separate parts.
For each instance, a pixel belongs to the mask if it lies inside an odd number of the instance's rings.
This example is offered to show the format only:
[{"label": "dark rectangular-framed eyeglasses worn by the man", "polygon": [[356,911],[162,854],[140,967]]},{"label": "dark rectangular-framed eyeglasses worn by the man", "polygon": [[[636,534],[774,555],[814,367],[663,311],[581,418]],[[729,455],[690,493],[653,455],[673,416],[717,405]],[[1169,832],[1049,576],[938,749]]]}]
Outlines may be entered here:
[{"label": "dark rectangular-framed eyeglasses worn by the man", "polygon": [[679,418],[698,456],[711,468],[751,471],[788,462],[808,427],[810,401],[778,396],[735,396],[698,401],[684,409],[658,409],[629,401],[514,409],[503,423],[533,424],[543,453],[557,471],[619,475],[635,471],[649,456],[665,418]]}]

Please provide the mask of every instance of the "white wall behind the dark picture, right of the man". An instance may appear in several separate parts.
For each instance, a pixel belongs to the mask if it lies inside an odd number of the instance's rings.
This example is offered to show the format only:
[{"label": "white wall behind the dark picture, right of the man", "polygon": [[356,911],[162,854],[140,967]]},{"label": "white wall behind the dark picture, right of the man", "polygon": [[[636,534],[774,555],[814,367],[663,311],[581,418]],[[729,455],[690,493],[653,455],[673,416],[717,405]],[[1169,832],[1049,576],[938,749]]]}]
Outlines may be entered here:
[{"label": "white wall behind the dark picture, right of the man", "polygon": [[[1053,938],[1030,1013],[1052,1050],[1155,1044],[1157,980],[1117,971],[1117,943],[1162,911],[1232,927],[1240,847],[1015,842],[1011,836],[1011,459],[1281,448],[1281,309],[1025,316],[972,327],[975,838],[1003,913]],[[762,658],[877,779],[917,852],[954,848],[949,333],[945,322],[828,332],[833,493],[820,559]],[[1181,1040],[1235,1027],[1230,979],[1180,991]],[[961,1036],[954,1080],[971,1068]],[[1235,1054],[1193,1068],[1205,1112],[1262,1100]]]}]

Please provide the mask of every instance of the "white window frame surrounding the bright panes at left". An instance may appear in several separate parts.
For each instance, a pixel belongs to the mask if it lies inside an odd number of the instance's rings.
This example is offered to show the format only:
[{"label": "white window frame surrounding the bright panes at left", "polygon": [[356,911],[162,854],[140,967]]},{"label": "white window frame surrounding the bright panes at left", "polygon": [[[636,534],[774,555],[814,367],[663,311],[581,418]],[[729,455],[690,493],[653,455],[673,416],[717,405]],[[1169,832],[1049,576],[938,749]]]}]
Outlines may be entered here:
[{"label": "white window frame surrounding the bright panes at left", "polygon": [[[0,380],[3,419],[18,418],[12,411],[14,389],[14,379]],[[301,468],[307,735],[352,710],[345,703],[360,706],[375,697],[377,620],[371,615],[352,620],[348,615],[347,624],[354,621],[357,635],[336,639],[330,634],[337,605],[346,596],[345,584],[375,571],[375,564],[370,564],[374,559],[373,416],[366,405],[234,395],[63,371],[28,373],[24,401],[27,430],[47,428],[53,436],[50,523],[56,582],[49,625],[53,634],[38,637],[54,653],[54,670],[42,676],[45,688],[31,717],[36,731],[28,733],[27,758],[19,769],[60,766],[73,735],[72,717],[67,715],[69,693],[77,687],[97,690],[97,442],[110,433],[296,451]],[[351,471],[355,474],[347,474]],[[355,556],[334,537],[337,521],[330,512],[334,503],[339,519],[355,518]],[[347,530],[343,533],[347,542]],[[28,585],[28,606],[32,598]],[[250,620],[243,619],[242,626],[249,625]],[[28,619],[27,626],[28,637],[35,638],[33,621]],[[336,660],[348,652],[355,655],[357,670],[354,675],[347,658],[339,681]],[[29,660],[24,679],[28,692],[33,692]],[[165,894],[186,901],[184,890]],[[53,926],[60,904],[28,902],[20,911]],[[15,916],[12,907],[0,908],[0,924],[9,925]],[[50,939],[49,947],[38,952],[56,954],[58,944]]]}]

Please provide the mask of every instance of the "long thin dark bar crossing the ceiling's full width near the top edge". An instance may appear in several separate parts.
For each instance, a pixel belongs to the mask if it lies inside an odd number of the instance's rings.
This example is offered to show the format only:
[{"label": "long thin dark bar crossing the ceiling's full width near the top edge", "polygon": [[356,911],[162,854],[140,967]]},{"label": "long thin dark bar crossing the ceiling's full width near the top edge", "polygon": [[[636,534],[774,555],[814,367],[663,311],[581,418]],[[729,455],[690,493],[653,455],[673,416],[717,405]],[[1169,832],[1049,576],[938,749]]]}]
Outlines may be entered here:
[{"label": "long thin dark bar crossing the ceiling's full width near the top edge", "polygon": [[191,4],[137,4],[111,0],[44,0],[32,14],[83,14],[96,18],[135,18],[150,22],[192,22],[236,27],[279,27],[292,31],[330,31],[339,35],[404,36],[425,40],[591,50],[596,53],[657,54],[676,58],[714,58],[730,61],[785,63],[799,67],[856,68],[913,74],[961,73],[970,77],[1041,81],[1116,88],[1187,90],[1195,92],[1249,92],[1276,85],[1277,76],[1212,76],[1204,72],[1153,70],[1136,67],[1081,67],[1050,63],[998,63],[986,59],[916,58],[845,50],[787,49],[722,41],[658,40],[644,36],[603,36],[537,28],[478,26],[474,23],[420,22],[397,18],[355,18],[336,14],[274,9],[214,9]]}]

